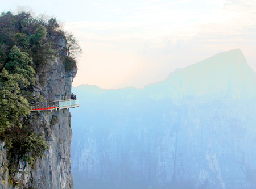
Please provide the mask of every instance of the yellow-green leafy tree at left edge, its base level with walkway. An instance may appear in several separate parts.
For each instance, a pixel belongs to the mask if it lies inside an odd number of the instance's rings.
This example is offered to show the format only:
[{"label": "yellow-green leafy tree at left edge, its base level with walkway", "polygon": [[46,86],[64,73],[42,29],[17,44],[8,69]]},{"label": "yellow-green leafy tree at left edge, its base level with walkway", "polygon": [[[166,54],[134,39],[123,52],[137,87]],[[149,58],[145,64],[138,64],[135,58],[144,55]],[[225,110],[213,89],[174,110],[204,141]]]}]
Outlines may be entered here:
[{"label": "yellow-green leafy tree at left edge, its base level with walkway", "polygon": [[0,73],[0,132],[14,126],[22,127],[20,118],[30,114],[30,104],[25,93],[28,86],[35,85],[32,58],[18,47],[11,48],[5,68]]}]

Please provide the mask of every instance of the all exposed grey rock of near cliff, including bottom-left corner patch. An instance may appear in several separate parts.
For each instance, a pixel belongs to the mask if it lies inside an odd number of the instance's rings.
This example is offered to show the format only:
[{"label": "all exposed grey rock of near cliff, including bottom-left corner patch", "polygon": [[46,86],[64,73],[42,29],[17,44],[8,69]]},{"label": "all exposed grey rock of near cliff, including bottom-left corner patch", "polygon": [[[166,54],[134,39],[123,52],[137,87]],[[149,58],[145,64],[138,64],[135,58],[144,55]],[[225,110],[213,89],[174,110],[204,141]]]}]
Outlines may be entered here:
[{"label": "all exposed grey rock of near cliff, including bottom-left corner patch", "polygon": [[[63,49],[66,41],[60,37],[59,49]],[[64,100],[71,96],[72,81],[77,69],[65,71],[63,61],[56,58],[44,70],[43,75],[38,76],[38,85],[34,89],[35,94],[42,94],[47,100]],[[40,82],[39,82],[40,77]],[[36,115],[35,115],[36,114]],[[48,141],[49,150],[45,157],[36,160],[35,165],[27,165],[20,162],[20,173],[15,175],[19,187],[32,188],[73,188],[71,175],[70,147],[71,147],[71,114],[68,109],[52,112],[36,112],[33,125],[36,132],[43,133]],[[2,188],[10,188],[7,180],[6,150],[0,144],[0,177]]]}]

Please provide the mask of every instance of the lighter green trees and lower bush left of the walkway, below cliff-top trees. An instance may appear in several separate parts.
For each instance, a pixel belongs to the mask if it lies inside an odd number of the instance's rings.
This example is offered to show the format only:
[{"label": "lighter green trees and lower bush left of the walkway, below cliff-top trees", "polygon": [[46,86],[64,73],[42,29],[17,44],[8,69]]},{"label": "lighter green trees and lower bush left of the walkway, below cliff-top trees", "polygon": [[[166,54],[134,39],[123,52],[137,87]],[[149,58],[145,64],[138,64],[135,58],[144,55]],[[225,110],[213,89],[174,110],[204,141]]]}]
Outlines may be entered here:
[{"label": "lighter green trees and lower bush left of the walkway, below cliff-top trees", "polygon": [[47,149],[42,135],[35,133],[34,128],[26,123],[33,99],[27,90],[36,82],[31,65],[32,58],[13,46],[0,73],[0,137],[6,142],[7,158],[13,162],[22,158],[32,163]]}]

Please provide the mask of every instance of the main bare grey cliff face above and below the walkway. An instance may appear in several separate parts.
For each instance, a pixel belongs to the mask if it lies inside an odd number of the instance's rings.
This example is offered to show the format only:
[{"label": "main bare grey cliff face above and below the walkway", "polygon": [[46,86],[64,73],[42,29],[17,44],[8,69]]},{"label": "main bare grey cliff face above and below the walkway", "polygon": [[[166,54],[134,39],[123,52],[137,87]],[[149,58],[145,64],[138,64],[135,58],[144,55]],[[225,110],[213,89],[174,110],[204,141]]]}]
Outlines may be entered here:
[{"label": "main bare grey cliff face above and below the walkway", "polygon": [[[71,96],[72,81],[77,70],[65,72],[63,62],[56,60],[44,78],[46,82],[38,86],[38,92],[49,101],[64,100]],[[71,114],[68,109],[52,112],[40,112],[35,127],[45,133],[49,150],[46,157],[36,162],[27,178],[28,185],[39,188],[73,188],[71,175]],[[32,179],[32,182],[31,182]],[[30,183],[31,182],[31,183]]]}]

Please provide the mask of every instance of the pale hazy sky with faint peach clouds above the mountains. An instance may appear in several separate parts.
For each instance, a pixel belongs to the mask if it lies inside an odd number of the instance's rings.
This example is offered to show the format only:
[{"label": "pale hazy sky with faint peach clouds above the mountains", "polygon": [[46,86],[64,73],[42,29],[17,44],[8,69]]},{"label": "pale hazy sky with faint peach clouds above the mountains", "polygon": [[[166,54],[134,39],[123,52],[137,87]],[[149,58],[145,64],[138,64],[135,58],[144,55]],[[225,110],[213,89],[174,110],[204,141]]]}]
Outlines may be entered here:
[{"label": "pale hazy sky with faint peach clouds above the mountains", "polygon": [[143,87],[240,48],[256,72],[256,0],[44,0],[3,3],[56,16],[83,49],[73,86]]}]

